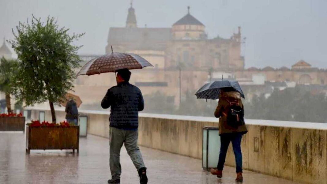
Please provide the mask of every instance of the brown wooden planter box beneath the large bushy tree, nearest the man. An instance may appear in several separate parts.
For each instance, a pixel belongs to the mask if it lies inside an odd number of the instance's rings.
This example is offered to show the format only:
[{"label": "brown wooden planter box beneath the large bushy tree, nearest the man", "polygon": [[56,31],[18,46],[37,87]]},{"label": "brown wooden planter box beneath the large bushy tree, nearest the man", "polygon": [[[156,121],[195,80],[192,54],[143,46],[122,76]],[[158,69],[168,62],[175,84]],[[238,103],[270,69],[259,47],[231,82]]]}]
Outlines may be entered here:
[{"label": "brown wooden planter box beneath the large bushy tree, nearest the man", "polygon": [[79,126],[26,126],[26,153],[31,149],[75,149],[78,152]]}]

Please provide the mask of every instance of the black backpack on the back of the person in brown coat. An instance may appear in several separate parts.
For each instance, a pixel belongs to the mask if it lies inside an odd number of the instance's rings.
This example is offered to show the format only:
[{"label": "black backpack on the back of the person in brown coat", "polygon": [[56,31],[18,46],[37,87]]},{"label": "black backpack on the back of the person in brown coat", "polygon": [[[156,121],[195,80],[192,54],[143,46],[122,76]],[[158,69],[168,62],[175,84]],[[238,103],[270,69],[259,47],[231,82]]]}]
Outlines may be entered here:
[{"label": "black backpack on the back of the person in brown coat", "polygon": [[[228,101],[228,100],[227,100]],[[244,125],[244,110],[238,102],[228,101],[230,106],[227,111],[227,124],[232,127]]]}]

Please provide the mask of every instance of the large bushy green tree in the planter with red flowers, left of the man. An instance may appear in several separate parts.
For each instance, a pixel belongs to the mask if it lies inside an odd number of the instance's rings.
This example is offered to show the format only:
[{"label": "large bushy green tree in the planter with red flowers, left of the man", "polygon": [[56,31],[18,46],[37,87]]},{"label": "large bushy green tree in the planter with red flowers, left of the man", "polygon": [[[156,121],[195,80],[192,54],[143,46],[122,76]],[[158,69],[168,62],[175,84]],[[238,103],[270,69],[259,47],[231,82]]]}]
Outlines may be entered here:
[{"label": "large bushy green tree in the planter with red flowers, left of the man", "polygon": [[52,121],[56,122],[54,103],[59,103],[73,88],[74,69],[79,66],[77,50],[72,43],[83,34],[70,36],[64,27],[48,17],[46,22],[32,17],[29,23],[19,23],[15,39],[10,43],[21,61],[15,90],[26,106],[49,101]]}]

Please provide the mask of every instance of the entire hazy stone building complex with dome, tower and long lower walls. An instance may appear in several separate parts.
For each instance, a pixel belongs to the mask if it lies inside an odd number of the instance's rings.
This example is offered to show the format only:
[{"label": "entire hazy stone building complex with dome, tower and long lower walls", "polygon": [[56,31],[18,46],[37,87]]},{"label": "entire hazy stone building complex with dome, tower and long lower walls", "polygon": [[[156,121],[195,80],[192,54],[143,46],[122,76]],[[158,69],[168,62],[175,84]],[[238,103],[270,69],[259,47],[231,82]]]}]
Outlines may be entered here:
[{"label": "entire hazy stone building complex with dome, tower and long lower walls", "polygon": [[[189,7],[187,14],[171,27],[138,27],[135,9],[131,5],[126,26],[109,29],[105,50],[110,54],[112,46],[114,52],[135,53],[147,59],[154,67],[132,70],[130,82],[137,85],[144,95],[159,91],[171,96],[177,106],[186,92],[196,92],[208,81],[221,80],[221,77],[238,80],[245,88],[278,82],[326,84],[327,71],[314,68],[303,60],[291,68],[245,69],[241,56],[243,41],[240,27],[228,39],[209,39],[205,25],[191,15]],[[82,98],[92,91],[93,98],[84,98],[83,102],[98,102],[115,84],[114,74],[79,76],[75,91]],[[92,86],[88,88],[91,91],[85,86]]]}]

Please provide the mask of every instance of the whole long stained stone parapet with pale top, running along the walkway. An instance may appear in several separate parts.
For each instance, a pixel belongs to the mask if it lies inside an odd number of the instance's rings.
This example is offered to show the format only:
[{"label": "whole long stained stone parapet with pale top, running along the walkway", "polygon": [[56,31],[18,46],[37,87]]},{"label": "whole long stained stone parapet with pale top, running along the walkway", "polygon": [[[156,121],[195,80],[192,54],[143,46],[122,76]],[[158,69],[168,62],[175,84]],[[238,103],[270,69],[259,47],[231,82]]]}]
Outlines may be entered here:
[{"label": "whole long stained stone parapet with pale top, running along the walkway", "polygon": [[[45,111],[45,119],[51,120],[48,109],[32,110],[32,119],[38,119],[39,111]],[[88,116],[88,134],[109,136],[109,112],[80,113]],[[56,114],[57,121],[64,120],[63,109],[56,109]],[[139,116],[139,145],[197,159],[202,158],[202,128],[218,126],[216,118]],[[244,169],[302,183],[327,183],[327,124],[268,120],[246,123],[249,132],[242,139]],[[225,164],[235,165],[232,146]]]}]

